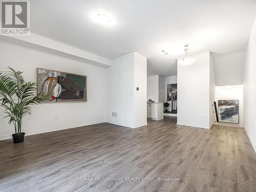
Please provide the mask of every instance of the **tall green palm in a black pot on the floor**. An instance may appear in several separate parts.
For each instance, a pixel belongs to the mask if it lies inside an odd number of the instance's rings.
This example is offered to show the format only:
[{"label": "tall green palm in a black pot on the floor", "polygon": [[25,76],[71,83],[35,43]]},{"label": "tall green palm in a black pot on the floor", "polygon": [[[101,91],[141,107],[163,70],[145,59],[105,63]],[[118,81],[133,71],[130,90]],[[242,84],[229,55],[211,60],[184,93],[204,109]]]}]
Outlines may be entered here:
[{"label": "tall green palm in a black pot on the floor", "polygon": [[25,133],[22,132],[22,118],[31,115],[31,105],[45,102],[42,94],[34,95],[36,83],[25,82],[23,72],[15,71],[8,67],[5,72],[0,72],[0,105],[4,107],[5,118],[9,124],[13,123],[15,134],[12,135],[14,143],[24,141]]}]

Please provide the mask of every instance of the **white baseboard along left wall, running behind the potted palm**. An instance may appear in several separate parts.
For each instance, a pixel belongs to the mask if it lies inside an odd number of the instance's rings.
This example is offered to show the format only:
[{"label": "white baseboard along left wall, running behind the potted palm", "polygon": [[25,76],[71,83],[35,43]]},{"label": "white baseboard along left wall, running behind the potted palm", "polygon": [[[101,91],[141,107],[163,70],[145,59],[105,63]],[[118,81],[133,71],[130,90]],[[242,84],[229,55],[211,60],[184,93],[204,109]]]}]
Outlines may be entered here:
[{"label": "white baseboard along left wall, running behind the potted palm", "polygon": [[[104,122],[105,122],[105,120],[100,120],[100,121],[92,121],[92,122],[79,123],[79,124],[73,124],[73,125],[67,125],[67,126],[58,126],[58,127],[37,130],[37,131],[30,131],[30,132],[26,132],[26,136],[36,135],[36,134],[40,134],[40,133],[60,131],[60,130],[67,130],[67,129],[72,129],[72,128],[79,127],[79,126],[87,126],[87,125],[93,125],[93,124],[104,123]],[[0,136],[0,140],[11,139],[11,138],[12,138],[11,135]]]}]

